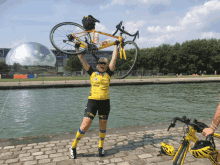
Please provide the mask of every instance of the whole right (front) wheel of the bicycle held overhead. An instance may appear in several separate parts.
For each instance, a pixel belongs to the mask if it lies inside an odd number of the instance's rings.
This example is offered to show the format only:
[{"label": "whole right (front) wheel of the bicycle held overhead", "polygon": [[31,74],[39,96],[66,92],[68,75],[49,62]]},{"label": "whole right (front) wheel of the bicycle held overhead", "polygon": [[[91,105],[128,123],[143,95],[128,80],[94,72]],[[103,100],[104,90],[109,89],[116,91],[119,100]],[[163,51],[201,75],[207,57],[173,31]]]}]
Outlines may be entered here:
[{"label": "whole right (front) wheel of the bicycle held overhead", "polygon": [[124,58],[120,59],[120,55],[118,55],[114,70],[114,77],[116,79],[123,79],[127,77],[131,73],[137,62],[137,44],[134,41],[126,41],[124,43],[124,49],[126,54],[126,60]]}]

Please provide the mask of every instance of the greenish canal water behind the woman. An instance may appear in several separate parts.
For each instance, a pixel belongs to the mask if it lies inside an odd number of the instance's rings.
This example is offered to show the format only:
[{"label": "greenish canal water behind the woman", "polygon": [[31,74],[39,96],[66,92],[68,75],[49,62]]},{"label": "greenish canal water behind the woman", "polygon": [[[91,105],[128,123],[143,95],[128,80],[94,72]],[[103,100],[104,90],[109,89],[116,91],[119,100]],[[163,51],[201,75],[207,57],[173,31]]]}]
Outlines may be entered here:
[{"label": "greenish canal water behind the woman", "polygon": [[[208,119],[219,103],[220,83],[110,87],[108,128],[169,123],[173,117]],[[0,139],[75,132],[90,88],[0,91]],[[90,130],[98,129],[98,116]]]}]

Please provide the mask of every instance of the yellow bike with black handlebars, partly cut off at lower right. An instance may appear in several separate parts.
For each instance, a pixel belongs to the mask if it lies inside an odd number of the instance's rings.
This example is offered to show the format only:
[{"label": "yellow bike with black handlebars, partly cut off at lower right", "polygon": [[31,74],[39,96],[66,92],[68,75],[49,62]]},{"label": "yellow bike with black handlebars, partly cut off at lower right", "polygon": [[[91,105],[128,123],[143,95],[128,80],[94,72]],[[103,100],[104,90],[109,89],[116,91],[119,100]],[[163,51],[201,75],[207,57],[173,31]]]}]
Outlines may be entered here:
[{"label": "yellow bike with black handlebars, partly cut off at lower right", "polygon": [[[185,116],[183,116],[182,118],[179,118],[179,117],[173,118],[173,120],[172,120],[170,126],[168,127],[167,131],[169,131],[169,129],[171,127],[175,127],[177,120],[179,120],[182,123],[185,123],[187,125],[187,129],[186,129],[187,135],[185,136],[185,134],[184,134],[182,143],[181,143],[181,145],[180,145],[178,151],[176,152],[176,154],[175,154],[175,156],[174,156],[172,161],[173,161],[173,165],[180,165],[180,163],[181,163],[181,165],[183,165],[185,157],[186,157],[186,154],[187,154],[187,151],[188,151],[189,146],[190,146],[190,141],[192,140],[194,143],[196,143],[198,141],[198,138],[196,137],[195,132],[202,133],[203,129],[204,128],[208,128],[208,126],[205,123],[203,123],[203,122],[198,122],[196,119],[194,119],[193,122],[191,122],[190,119],[188,119]],[[189,126],[191,126],[191,127],[189,128]],[[217,138],[220,138],[220,134],[214,133],[213,135],[207,136],[206,140],[207,141],[211,141],[212,140],[212,142],[213,142],[213,144],[215,146],[213,136],[217,137]],[[219,165],[219,163],[217,161],[217,158],[216,159],[214,158],[214,156],[216,156],[216,154],[218,154],[219,152],[218,152],[217,149],[215,149],[214,153],[215,154],[213,154],[208,159],[214,165]],[[178,160],[180,161],[179,164],[177,164]]]}]

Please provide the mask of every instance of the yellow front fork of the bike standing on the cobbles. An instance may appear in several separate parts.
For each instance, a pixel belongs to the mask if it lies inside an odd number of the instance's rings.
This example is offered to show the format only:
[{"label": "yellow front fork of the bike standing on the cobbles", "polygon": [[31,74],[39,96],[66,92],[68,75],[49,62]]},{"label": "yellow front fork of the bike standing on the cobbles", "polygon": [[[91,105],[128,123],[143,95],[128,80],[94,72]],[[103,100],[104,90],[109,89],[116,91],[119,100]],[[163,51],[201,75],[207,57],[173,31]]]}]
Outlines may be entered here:
[{"label": "yellow front fork of the bike standing on the cobbles", "polygon": [[[189,149],[189,142],[188,140],[184,139],[176,155],[173,158],[173,165],[183,165],[188,149]],[[179,159],[180,162],[177,164]]]}]

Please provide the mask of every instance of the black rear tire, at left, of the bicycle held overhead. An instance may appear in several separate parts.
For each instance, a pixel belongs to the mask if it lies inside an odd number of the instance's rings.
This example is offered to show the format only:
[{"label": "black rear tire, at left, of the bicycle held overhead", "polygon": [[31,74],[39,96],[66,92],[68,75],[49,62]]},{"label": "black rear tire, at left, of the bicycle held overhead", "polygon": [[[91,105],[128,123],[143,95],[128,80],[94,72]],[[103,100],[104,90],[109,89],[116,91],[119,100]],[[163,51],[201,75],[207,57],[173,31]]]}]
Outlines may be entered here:
[{"label": "black rear tire, at left, of the bicycle held overhead", "polygon": [[[70,45],[70,48],[71,48],[71,50],[68,50],[68,49],[62,49],[60,46],[58,46],[56,43],[55,43],[55,40],[54,40],[54,34],[55,34],[55,31],[57,30],[57,31],[59,31],[59,29],[63,29],[64,30],[64,32],[63,33],[61,33],[60,35],[58,35],[59,37],[61,37],[61,35],[66,35],[66,36],[63,36],[64,37],[64,39],[68,39],[67,38],[67,35],[69,35],[69,34],[72,34],[72,33],[76,33],[77,31],[73,31],[73,30],[69,30],[68,28],[66,28],[66,30],[67,31],[65,31],[65,29],[63,28],[64,26],[73,26],[73,27],[75,27],[76,28],[76,30],[78,30],[78,31],[85,31],[85,29],[84,29],[84,27],[83,26],[81,26],[81,25],[79,25],[79,24],[77,24],[77,23],[74,23],[74,22],[62,22],[62,23],[59,23],[59,24],[57,24],[57,25],[55,25],[53,28],[52,28],[52,30],[50,31],[50,42],[51,42],[51,44],[53,45],[53,47],[55,48],[55,49],[57,49],[58,51],[60,51],[60,52],[62,52],[62,53],[64,53],[64,54],[67,54],[67,55],[78,55],[78,54],[82,54],[82,53],[84,53],[85,51],[86,51],[86,48],[79,48],[79,52],[74,52],[75,51],[75,48],[74,48],[74,43],[67,43],[66,45]],[[59,28],[59,29],[58,29]],[[64,34],[64,33],[66,33],[66,34]],[[86,37],[87,37],[87,41],[88,41],[88,43],[91,43],[91,36],[90,36],[90,34],[89,33],[86,33]],[[62,39],[61,39],[62,40]],[[64,41],[67,41],[67,40],[63,40],[63,42]],[[61,43],[62,43],[62,41],[61,41]],[[72,44],[72,45],[71,45]],[[73,48],[74,48],[74,50],[73,50]]]}]

